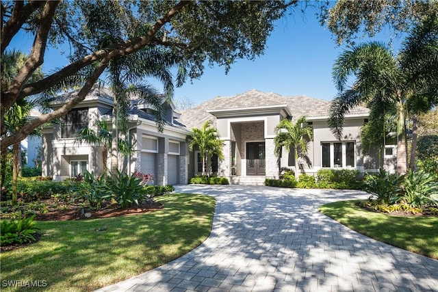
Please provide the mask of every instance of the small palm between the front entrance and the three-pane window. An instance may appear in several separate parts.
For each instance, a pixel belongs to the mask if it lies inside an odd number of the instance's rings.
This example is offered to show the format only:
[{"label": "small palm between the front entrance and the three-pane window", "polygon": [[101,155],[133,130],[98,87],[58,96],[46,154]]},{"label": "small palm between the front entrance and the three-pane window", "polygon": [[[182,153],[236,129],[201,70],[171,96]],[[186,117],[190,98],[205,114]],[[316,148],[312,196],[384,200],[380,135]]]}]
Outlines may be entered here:
[{"label": "small palm between the front entrance and the three-pane window", "polygon": [[311,165],[307,152],[309,150],[309,140],[313,139],[313,131],[309,127],[304,127],[307,122],[305,116],[298,118],[296,123],[289,119],[283,119],[275,127],[276,136],[274,138],[275,155],[281,156],[281,149],[283,146],[289,152],[294,148],[294,163],[295,163],[295,178],[299,178],[298,159],[305,159],[307,165]]}]

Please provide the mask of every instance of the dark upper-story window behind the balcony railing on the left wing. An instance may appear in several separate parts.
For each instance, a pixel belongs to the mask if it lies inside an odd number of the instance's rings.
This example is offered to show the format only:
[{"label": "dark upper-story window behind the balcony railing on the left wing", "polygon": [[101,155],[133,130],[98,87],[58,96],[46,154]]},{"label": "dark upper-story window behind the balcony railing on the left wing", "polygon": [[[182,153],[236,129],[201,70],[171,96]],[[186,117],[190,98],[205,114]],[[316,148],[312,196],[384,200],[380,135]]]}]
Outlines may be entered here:
[{"label": "dark upper-story window behind the balcony railing on the left wing", "polygon": [[75,138],[88,127],[88,108],[72,109],[62,118],[61,138]]}]

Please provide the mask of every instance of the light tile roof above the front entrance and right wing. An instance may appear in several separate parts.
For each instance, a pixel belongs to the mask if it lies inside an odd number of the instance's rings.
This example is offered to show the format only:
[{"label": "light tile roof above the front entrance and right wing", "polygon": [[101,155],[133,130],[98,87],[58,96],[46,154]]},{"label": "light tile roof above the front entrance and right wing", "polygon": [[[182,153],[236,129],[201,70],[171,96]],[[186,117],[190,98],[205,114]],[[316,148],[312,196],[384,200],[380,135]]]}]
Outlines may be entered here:
[{"label": "light tile roof above the front entrance and right wing", "polygon": [[[194,127],[200,128],[206,120],[211,120],[211,124],[216,127],[216,117],[207,111],[280,105],[287,105],[292,112],[292,120],[295,120],[300,116],[307,116],[307,118],[327,117],[329,116],[331,102],[305,95],[281,96],[274,92],[265,93],[259,90],[250,90],[236,96],[216,97],[201,103],[201,105],[187,109],[181,113],[179,122],[188,129],[192,129]],[[368,114],[368,109],[356,107],[348,114]]]}]

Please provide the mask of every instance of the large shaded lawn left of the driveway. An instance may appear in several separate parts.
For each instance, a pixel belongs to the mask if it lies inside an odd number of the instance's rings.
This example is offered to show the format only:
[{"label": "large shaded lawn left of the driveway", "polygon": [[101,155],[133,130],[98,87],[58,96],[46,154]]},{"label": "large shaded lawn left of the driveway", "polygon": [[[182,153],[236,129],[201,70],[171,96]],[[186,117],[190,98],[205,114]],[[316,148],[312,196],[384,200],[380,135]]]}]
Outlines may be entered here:
[{"label": "large shaded lawn left of the driveway", "polygon": [[[144,215],[38,222],[38,243],[1,253],[0,283],[45,280],[44,291],[91,291],[168,263],[208,237],[214,198],[168,194],[156,200],[164,209]],[[96,232],[102,226],[107,230]]]}]

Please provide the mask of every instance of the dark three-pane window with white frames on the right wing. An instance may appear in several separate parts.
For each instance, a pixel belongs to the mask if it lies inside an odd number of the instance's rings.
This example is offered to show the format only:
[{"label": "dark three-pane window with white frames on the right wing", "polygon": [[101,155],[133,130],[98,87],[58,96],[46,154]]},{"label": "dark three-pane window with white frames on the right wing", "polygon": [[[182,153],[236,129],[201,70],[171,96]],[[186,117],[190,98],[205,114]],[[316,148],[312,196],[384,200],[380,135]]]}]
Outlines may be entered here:
[{"label": "dark three-pane window with white frames on the right wing", "polygon": [[355,168],[355,142],[321,143],[323,168]]}]

